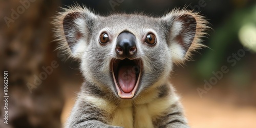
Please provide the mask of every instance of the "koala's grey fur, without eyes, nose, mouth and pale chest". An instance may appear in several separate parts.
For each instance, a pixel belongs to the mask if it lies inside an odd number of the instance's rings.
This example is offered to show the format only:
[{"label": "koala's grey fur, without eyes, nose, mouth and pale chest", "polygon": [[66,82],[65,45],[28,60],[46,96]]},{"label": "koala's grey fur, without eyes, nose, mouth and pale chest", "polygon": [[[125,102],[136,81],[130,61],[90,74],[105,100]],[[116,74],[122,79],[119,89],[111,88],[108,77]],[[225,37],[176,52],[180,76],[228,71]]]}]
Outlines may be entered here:
[{"label": "koala's grey fur, without eyes, nose, mouth and pale chest", "polygon": [[[81,71],[86,81],[66,127],[119,127],[111,126],[114,115],[105,110],[108,106],[99,107],[97,101],[86,100],[86,96],[113,104],[112,109],[122,108],[120,105],[131,102],[133,123],[137,121],[135,115],[139,111],[136,110],[136,105],[175,99],[175,90],[167,82],[169,73],[173,63],[178,63],[179,59],[185,60],[191,51],[202,46],[199,42],[207,28],[205,24],[206,21],[200,15],[186,10],[173,11],[163,17],[141,14],[99,16],[81,7],[72,7],[60,13],[55,21],[56,36],[61,41],[61,48],[81,61]],[[116,38],[123,31],[135,35],[138,47],[136,58],[142,60],[143,66],[138,91],[129,100],[118,97],[110,66],[111,60],[117,58],[114,49]],[[110,36],[108,44],[99,43],[102,32]],[[155,46],[148,46],[143,42],[143,37],[148,33],[155,34]],[[172,47],[175,43],[180,49],[176,53],[174,51],[177,48]],[[83,49],[79,51],[79,48]],[[156,96],[147,99],[146,95],[151,93]],[[161,116],[152,117],[154,127],[189,127],[178,100],[174,100],[159,115]],[[135,124],[132,125],[135,127]]]}]

